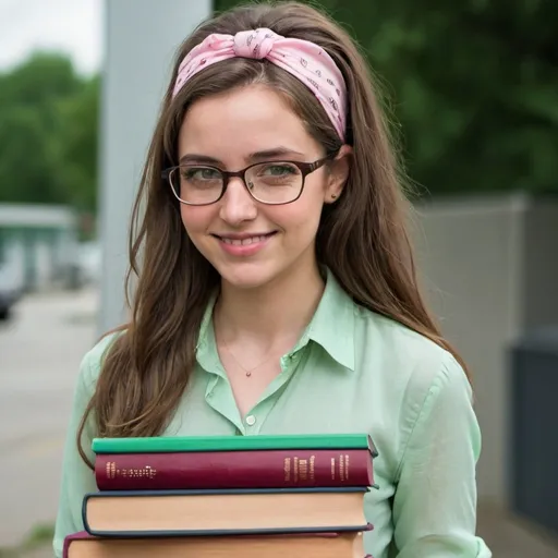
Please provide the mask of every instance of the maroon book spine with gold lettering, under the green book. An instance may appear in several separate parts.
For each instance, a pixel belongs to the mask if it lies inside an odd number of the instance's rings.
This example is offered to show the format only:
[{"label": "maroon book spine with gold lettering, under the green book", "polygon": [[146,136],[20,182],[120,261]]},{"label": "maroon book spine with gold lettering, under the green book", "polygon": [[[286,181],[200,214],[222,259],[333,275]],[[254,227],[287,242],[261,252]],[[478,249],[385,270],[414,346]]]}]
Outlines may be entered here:
[{"label": "maroon book spine with gold lettering, under the green book", "polygon": [[374,485],[368,450],[97,454],[99,490],[302,488]]}]

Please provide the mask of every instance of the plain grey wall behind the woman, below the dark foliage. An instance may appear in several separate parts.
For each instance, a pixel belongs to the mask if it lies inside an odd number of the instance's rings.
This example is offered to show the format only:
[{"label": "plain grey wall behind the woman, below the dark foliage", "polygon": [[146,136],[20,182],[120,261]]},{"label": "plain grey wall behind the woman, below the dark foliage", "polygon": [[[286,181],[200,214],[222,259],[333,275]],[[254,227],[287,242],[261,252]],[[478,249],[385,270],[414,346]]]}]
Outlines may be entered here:
[{"label": "plain grey wall behind the woman, below the dark foliage", "polygon": [[508,349],[525,332],[558,324],[558,199],[437,199],[417,211],[425,287],[473,376],[483,430],[480,496],[506,507],[509,463],[523,451],[511,444]]}]

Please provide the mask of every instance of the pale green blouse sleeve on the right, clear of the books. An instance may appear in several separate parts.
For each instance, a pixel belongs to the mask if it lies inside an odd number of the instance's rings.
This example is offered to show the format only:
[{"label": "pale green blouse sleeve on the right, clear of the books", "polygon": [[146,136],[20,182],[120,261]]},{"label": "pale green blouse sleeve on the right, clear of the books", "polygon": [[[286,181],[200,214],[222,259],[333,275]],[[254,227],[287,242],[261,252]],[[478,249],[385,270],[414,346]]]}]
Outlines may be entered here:
[{"label": "pale green blouse sleeve on the right, clear of the books", "polygon": [[447,353],[399,466],[393,499],[398,558],[492,556],[475,535],[481,432],[471,396],[463,369]]}]

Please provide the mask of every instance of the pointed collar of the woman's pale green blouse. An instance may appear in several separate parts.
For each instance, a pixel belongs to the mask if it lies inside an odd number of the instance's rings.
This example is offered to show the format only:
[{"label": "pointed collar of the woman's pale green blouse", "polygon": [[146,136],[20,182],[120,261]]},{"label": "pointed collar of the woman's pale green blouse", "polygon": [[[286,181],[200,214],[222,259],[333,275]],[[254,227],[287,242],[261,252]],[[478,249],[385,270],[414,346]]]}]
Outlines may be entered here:
[{"label": "pointed collar of the woman's pale green blouse", "polygon": [[[319,344],[341,366],[354,371],[354,302],[326,268],[326,287],[316,312],[296,343],[294,351],[310,340]],[[196,356],[205,369],[218,363],[217,344],[213,327],[213,311],[217,294],[211,296],[202,320]]]}]

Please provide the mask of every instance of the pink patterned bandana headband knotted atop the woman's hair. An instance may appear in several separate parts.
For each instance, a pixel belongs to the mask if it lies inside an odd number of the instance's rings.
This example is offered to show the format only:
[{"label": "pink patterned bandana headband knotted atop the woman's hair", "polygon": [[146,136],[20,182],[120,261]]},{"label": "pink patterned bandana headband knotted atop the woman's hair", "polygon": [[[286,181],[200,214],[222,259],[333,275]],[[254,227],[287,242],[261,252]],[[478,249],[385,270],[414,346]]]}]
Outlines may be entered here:
[{"label": "pink patterned bandana headband knotted atop the woman's hair", "polygon": [[194,47],[179,68],[174,97],[194,74],[230,58],[267,59],[304,83],[317,97],[344,142],[347,86],[333,59],[308,40],[286,38],[271,29],[213,34]]}]

